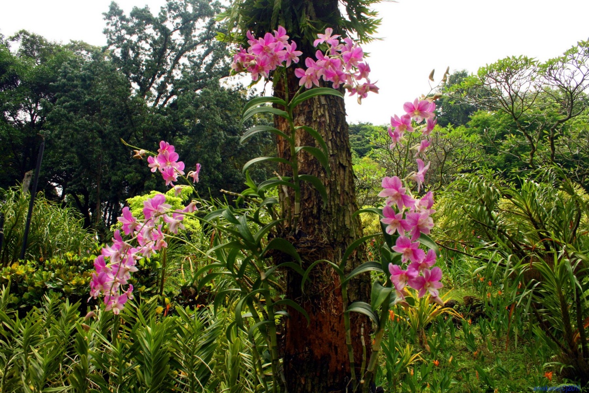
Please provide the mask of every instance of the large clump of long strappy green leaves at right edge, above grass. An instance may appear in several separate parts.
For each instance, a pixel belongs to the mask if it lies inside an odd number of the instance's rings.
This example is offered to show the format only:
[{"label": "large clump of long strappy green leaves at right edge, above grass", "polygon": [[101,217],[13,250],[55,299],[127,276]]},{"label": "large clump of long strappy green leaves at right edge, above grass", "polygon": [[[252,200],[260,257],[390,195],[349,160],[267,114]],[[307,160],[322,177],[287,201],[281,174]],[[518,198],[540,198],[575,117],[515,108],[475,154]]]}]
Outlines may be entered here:
[{"label": "large clump of long strappy green leaves at right edge, above grass", "polygon": [[588,199],[563,171],[552,169],[536,181],[522,180],[519,189],[489,175],[464,177],[438,204],[445,217],[442,242],[459,242],[488,259],[481,267],[486,276],[502,280],[512,299],[533,313],[577,377],[587,375],[589,355]]}]

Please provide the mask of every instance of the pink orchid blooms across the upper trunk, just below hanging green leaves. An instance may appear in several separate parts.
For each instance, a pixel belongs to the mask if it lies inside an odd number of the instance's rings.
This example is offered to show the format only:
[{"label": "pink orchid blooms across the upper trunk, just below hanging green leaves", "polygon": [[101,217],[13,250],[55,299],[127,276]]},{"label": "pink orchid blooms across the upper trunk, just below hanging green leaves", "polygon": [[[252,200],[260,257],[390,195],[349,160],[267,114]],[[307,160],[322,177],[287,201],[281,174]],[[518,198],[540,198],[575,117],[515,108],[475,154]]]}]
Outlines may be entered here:
[{"label": "pink orchid blooms across the upper trunk, just below hanging green leaves", "polygon": [[[316,60],[307,57],[305,68],[297,68],[294,74],[300,78],[299,85],[307,89],[319,86],[319,80],[332,82],[333,88],[343,87],[350,95],[358,94],[358,102],[366,98],[370,91],[378,93],[378,87],[371,83],[368,76],[370,66],[364,61],[364,51],[350,38],[339,39],[340,35],[332,35],[333,29],[326,28],[325,34],[317,34],[313,46],[327,45],[327,51],[317,50]],[[247,32],[249,48],[239,48],[233,57],[231,68],[235,72],[248,71],[252,80],[260,76],[267,78],[270,71],[284,65],[299,62],[301,51],[296,50],[296,42],[289,42],[286,30],[280,26],[274,34],[266,33],[263,38],[256,38]]]}]

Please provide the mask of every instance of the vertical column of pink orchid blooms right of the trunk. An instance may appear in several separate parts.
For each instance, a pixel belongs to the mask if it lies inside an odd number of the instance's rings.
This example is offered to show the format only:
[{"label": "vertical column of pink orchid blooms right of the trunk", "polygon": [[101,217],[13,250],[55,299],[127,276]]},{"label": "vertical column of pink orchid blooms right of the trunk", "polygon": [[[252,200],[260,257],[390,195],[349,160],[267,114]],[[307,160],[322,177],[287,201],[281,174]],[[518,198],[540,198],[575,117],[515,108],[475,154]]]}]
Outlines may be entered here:
[{"label": "vertical column of pink orchid blooms right of the trunk", "polygon": [[[401,142],[405,132],[415,131],[418,126],[413,127],[412,120],[417,125],[426,120],[425,127],[422,126],[421,131],[423,136],[429,136],[436,124],[435,103],[431,101],[416,99],[413,103],[405,103],[403,109],[406,114],[401,117],[398,115],[391,117],[391,127],[388,130],[389,136],[392,138],[391,148]],[[425,150],[429,144],[427,139],[422,140],[416,147],[416,155],[425,157]],[[416,163],[418,170],[410,173],[405,181],[415,181],[419,193],[430,163],[425,164],[421,158],[416,158]],[[408,264],[406,269],[402,269],[399,265],[389,264],[391,282],[395,286],[398,298],[405,299],[407,295],[405,287],[409,286],[419,290],[419,298],[429,292],[432,300],[443,305],[444,302],[439,298],[438,292],[438,289],[442,288],[440,282],[442,270],[439,267],[432,268],[436,262],[436,253],[434,250],[428,250],[428,253],[425,253],[419,248],[417,241],[422,233],[429,235],[434,227],[434,220],[431,217],[435,213],[435,210],[432,209],[434,195],[429,191],[421,199],[413,198],[403,186],[403,181],[397,176],[385,177],[382,180],[382,187],[383,190],[379,196],[386,197],[386,200],[385,207],[382,209],[384,217],[380,221],[386,224],[386,233],[389,235],[398,233],[395,246],[392,249],[401,253],[402,264]]]}]

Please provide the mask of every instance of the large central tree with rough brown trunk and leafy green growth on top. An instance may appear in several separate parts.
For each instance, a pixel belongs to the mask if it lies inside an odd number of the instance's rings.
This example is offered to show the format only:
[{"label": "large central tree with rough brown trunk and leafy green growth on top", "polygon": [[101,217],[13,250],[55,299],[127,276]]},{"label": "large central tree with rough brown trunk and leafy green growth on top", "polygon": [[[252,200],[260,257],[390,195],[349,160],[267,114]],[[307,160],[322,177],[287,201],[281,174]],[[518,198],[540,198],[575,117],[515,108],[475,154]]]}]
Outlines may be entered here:
[{"label": "large central tree with rough brown trunk and leafy green growth on top", "polygon": [[[231,38],[239,41],[240,35],[250,29],[255,35],[285,27],[303,51],[305,56],[315,54],[313,40],[317,32],[332,27],[337,34],[357,34],[361,41],[369,39],[379,20],[369,10],[374,0],[345,1],[347,15],[342,15],[337,0],[310,0],[304,2],[243,0],[234,2],[233,8],[225,15],[229,23],[237,23],[237,34]],[[287,68],[286,78],[273,82],[274,95],[284,99],[285,83],[289,91],[299,88],[299,80],[293,68]],[[343,251],[362,235],[360,220],[353,213],[358,210],[352,172],[352,154],[348,138],[348,124],[345,106],[341,98],[320,96],[300,104],[293,113],[295,126],[310,126],[319,131],[329,147],[329,166],[332,171],[327,177],[321,164],[310,155],[299,156],[299,173],[319,177],[327,190],[324,206],[319,192],[303,185],[301,190],[300,218],[297,227],[285,227],[280,233],[289,239],[309,266],[315,260],[326,259],[339,263]],[[274,119],[279,130],[289,134],[290,127],[280,117]],[[315,146],[315,139],[300,132],[296,136],[302,146]],[[289,144],[277,138],[278,155],[290,159]],[[280,174],[289,176],[290,167],[280,166]],[[280,195],[282,213],[294,215],[294,204],[289,197]],[[348,271],[363,262],[362,249],[347,261]],[[342,294],[339,278],[329,268],[315,270],[301,290],[301,279],[297,275],[287,276],[287,293],[305,308],[310,324],[303,315],[289,309],[286,322],[286,343],[284,349],[284,377],[289,392],[343,392],[349,388],[349,359],[346,351],[345,326],[343,322]],[[369,298],[368,280],[354,280],[349,285],[350,301]],[[356,359],[362,359],[362,343],[370,353],[370,322],[364,316],[352,318],[352,342]],[[369,356],[368,353],[368,356]],[[360,362],[358,361],[358,364]],[[359,374],[359,369],[358,369]],[[361,377],[360,377],[361,378]]]}]

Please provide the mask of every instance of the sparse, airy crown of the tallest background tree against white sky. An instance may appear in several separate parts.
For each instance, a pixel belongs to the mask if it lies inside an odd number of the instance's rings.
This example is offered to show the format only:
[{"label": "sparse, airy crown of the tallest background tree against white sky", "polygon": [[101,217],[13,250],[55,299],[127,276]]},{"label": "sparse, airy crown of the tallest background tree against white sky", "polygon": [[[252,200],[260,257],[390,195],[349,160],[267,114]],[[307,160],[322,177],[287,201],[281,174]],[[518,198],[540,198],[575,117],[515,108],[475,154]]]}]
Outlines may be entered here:
[{"label": "sparse, airy crown of the tallest background tree against white sky", "polygon": [[198,91],[229,75],[226,45],[214,39],[219,2],[170,0],[157,16],[112,2],[104,14],[112,61],[151,106],[166,107],[183,91]]}]

